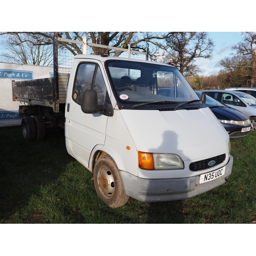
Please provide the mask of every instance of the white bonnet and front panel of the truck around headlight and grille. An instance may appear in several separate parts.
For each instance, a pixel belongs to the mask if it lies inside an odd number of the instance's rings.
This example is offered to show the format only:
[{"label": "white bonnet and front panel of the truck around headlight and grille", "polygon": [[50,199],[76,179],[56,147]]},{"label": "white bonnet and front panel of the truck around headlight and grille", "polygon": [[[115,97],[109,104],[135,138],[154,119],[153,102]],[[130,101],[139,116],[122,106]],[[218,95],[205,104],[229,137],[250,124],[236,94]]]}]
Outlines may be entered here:
[{"label": "white bonnet and front panel of the truck around headlight and grille", "polygon": [[189,170],[191,162],[227,154],[228,134],[208,108],[164,112],[122,110],[120,113],[137,151],[177,154],[185,165],[182,170],[139,169],[139,177],[168,179],[195,176],[200,172]]}]

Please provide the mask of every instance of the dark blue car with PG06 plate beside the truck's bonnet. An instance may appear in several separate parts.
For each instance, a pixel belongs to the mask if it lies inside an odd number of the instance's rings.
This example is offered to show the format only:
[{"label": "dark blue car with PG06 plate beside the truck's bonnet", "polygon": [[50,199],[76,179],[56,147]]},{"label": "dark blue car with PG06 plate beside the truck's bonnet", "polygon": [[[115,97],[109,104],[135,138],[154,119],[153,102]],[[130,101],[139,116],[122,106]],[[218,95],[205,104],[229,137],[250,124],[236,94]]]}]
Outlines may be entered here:
[{"label": "dark blue car with PG06 plate beside the truck's bonnet", "polygon": [[[198,97],[201,98],[202,92],[195,92]],[[229,108],[229,106],[220,103],[208,95],[206,95],[205,104],[221,122],[229,134],[229,138],[241,138],[249,135],[251,130],[251,122],[249,118],[242,112]]]}]

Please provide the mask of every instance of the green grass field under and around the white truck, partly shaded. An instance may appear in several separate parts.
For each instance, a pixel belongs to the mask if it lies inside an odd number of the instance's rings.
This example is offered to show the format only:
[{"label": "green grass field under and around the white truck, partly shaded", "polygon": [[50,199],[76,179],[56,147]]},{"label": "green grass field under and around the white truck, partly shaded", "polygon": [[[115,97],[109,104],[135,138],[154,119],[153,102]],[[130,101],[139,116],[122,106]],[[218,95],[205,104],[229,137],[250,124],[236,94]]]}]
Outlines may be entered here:
[{"label": "green grass field under and around the white truck, partly shaded", "polygon": [[231,140],[228,181],[187,200],[116,209],[97,197],[93,175],[69,156],[64,131],[26,142],[20,127],[0,128],[0,223],[255,223],[256,133]]}]

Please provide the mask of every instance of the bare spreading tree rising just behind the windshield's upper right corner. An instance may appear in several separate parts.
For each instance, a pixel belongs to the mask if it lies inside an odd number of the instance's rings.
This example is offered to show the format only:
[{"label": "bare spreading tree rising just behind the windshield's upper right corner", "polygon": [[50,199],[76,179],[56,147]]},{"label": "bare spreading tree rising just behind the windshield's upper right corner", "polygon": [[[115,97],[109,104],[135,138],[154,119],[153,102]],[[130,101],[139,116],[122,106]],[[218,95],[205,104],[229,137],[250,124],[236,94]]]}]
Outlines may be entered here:
[{"label": "bare spreading tree rising just behind the windshield's upper right corner", "polygon": [[163,61],[177,67],[185,76],[195,75],[199,71],[195,60],[211,59],[215,47],[206,32],[170,32],[165,41]]}]

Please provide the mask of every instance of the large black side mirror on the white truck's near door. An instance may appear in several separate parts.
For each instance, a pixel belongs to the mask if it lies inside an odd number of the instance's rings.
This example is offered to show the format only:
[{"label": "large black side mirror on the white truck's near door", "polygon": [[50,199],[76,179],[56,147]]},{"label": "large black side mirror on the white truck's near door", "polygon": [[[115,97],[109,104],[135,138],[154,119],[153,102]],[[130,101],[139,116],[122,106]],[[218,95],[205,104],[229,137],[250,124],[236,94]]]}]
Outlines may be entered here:
[{"label": "large black side mirror on the white truck's near door", "polygon": [[106,116],[113,116],[112,105],[98,105],[98,96],[95,90],[86,90],[82,95],[81,110],[86,114],[101,113]]}]

